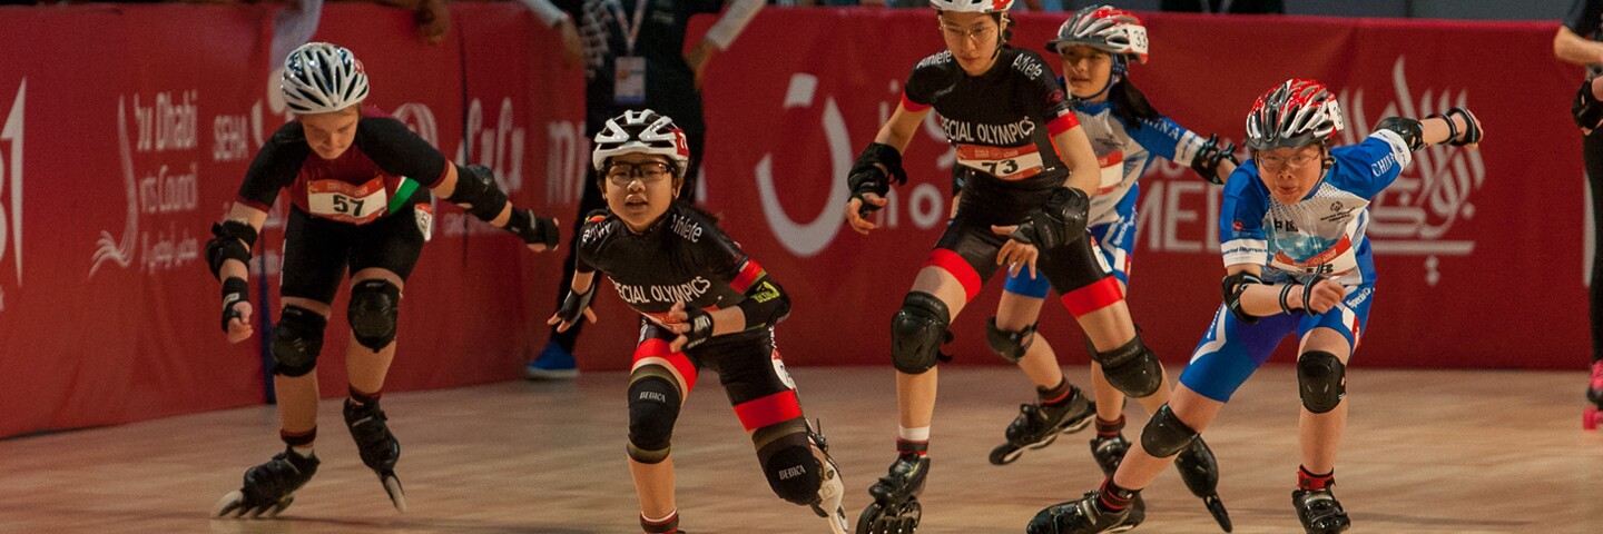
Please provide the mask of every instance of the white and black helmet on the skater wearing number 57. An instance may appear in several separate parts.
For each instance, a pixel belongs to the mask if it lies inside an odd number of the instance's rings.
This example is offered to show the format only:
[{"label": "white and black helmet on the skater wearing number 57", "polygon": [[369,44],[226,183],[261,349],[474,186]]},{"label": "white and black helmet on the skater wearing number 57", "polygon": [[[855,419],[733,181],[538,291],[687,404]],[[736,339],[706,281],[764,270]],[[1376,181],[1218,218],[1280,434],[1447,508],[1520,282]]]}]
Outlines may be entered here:
[{"label": "white and black helmet on the skater wearing number 57", "polygon": [[325,114],[367,98],[367,72],[345,47],[305,43],[284,58],[279,90],[290,111],[301,115]]}]

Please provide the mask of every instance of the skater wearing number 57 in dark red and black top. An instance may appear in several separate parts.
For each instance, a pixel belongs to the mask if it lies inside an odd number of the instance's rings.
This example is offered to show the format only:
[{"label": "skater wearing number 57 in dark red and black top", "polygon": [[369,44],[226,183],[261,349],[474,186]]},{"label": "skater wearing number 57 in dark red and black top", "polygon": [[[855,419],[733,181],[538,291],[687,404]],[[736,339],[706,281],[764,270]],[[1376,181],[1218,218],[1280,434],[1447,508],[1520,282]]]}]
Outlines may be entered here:
[{"label": "skater wearing number 57 in dark red and black top", "polygon": [[247,263],[281,189],[290,192],[284,231],[284,309],[273,327],[273,390],[284,452],[245,471],[215,516],[277,515],[317,471],[317,377],[324,329],[345,274],[351,276],[346,346],[351,396],[345,422],[362,463],[378,473],[396,508],[406,496],[394,475],[401,444],[378,409],[396,351],[401,290],[431,226],[430,191],[540,252],[556,245],[556,221],[516,208],[489,168],[457,167],[399,120],[362,107],[367,72],[349,50],[306,43],[284,61],[284,101],[297,114],[261,146],[205,253],[223,282],[223,332],[231,343],[253,334]]}]

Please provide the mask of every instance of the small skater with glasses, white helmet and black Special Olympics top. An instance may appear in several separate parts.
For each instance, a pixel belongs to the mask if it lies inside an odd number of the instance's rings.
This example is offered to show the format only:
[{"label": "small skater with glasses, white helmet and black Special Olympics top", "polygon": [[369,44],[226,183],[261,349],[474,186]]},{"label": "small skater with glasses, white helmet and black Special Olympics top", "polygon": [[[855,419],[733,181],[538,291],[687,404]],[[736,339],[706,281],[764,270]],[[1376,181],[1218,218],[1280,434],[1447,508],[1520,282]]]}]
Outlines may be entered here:
[{"label": "small skater with glasses, white helmet and black Special Olympics top", "polygon": [[707,213],[680,202],[689,144],[649,109],[608,120],[595,138],[608,208],[579,233],[574,277],[547,324],[595,322],[596,273],[641,314],[628,378],[628,467],[644,532],[680,531],[670,438],[704,367],[715,369],[769,487],[846,534],[840,468],[808,425],[774,348],[790,297]]}]

